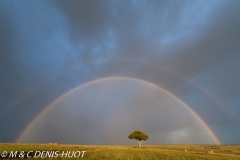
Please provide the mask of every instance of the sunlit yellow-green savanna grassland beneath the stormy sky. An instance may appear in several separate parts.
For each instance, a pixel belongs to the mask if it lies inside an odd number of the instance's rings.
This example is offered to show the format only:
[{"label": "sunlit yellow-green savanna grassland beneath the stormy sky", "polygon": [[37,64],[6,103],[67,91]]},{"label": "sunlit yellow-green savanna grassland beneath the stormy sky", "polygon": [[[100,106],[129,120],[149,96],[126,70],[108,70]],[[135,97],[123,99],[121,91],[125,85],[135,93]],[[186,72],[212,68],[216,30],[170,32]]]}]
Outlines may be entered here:
[{"label": "sunlit yellow-green savanna grassland beneath the stormy sky", "polygon": [[[11,151],[17,151],[17,156],[13,159],[106,159],[106,160],[240,160],[240,145],[145,145],[141,148],[135,146],[110,146],[110,145],[67,145],[67,144],[6,144],[0,143],[0,154],[8,153],[3,158],[9,159]],[[24,151],[24,157],[19,158],[18,155]],[[27,157],[27,153],[29,157]],[[69,151],[70,153],[76,151],[86,151],[78,158],[65,158],[64,156],[34,158],[36,151],[49,151],[54,153],[58,151],[61,155],[62,152]],[[80,152],[78,152],[80,153]],[[82,153],[82,152],[81,152]]]}]

